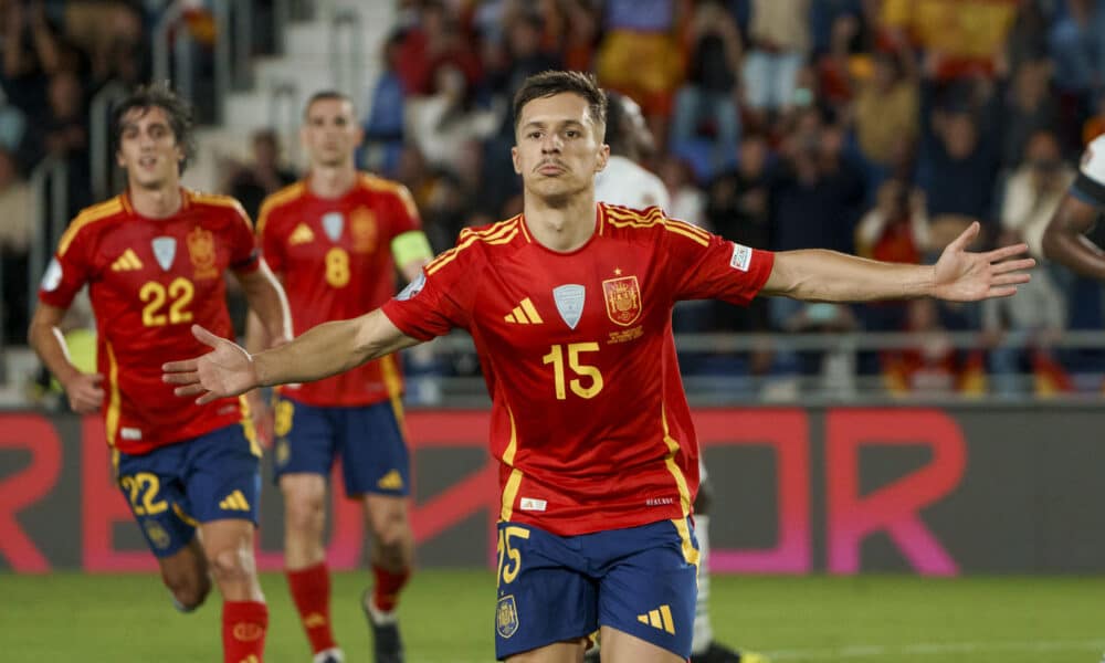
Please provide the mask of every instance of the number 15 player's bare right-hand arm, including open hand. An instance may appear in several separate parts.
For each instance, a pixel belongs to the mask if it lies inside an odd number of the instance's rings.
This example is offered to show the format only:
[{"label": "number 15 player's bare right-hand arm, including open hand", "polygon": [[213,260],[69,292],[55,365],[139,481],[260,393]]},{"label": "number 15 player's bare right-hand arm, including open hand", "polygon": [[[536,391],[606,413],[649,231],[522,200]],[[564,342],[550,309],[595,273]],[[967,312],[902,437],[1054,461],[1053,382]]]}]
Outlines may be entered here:
[{"label": "number 15 player's bare right-hand arm, including open hand", "polygon": [[978,232],[979,224],[972,223],[947,245],[935,265],[885,263],[824,250],[780,252],[762,293],[815,302],[925,296],[971,302],[1015,294],[1017,285],[1030,278],[1023,271],[1035,261],[1008,259],[1022,255],[1028,246],[970,253],[967,244]]}]

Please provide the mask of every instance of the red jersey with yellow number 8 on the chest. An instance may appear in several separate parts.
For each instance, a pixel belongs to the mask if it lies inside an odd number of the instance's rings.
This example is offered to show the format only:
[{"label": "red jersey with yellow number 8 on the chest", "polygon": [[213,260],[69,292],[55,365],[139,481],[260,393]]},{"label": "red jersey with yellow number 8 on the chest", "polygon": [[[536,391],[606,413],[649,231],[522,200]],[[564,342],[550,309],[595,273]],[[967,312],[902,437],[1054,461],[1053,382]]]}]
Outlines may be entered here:
[{"label": "red jersey with yellow number 8 on the chest", "polygon": [[[306,181],[265,199],[257,217],[261,250],[269,266],[283,276],[295,335],[387,302],[396,294],[391,240],[421,227],[406,187],[369,175],[334,200],[313,194]],[[402,393],[397,359],[389,355],[281,391],[312,406],[380,402]]]}]

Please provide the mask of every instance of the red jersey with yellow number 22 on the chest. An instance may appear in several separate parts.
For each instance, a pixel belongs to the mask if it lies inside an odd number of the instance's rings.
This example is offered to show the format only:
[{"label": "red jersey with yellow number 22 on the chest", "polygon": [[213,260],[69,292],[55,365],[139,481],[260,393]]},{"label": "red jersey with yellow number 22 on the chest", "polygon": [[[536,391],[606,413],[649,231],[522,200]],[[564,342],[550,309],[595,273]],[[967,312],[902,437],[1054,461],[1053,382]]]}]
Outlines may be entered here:
[{"label": "red jersey with yellow number 22 on the chest", "polygon": [[225,196],[182,190],[183,206],[147,219],[126,193],[82,211],[57,244],[39,298],[66,308],[85,284],[107,393],[107,442],[141,454],[242,421],[240,400],[197,406],[172,393],[161,365],[210,351],[192,324],[233,337],[223,272],[257,269],[245,211]]}]

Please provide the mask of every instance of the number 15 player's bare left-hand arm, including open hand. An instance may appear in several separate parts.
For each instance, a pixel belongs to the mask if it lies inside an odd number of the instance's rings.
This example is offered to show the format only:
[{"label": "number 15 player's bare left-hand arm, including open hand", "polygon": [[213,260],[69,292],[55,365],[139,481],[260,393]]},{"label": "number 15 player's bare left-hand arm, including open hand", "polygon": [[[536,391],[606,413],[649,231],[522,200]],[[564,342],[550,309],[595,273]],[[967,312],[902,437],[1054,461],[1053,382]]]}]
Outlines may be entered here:
[{"label": "number 15 player's bare left-hand arm, including open hand", "polygon": [[161,367],[165,381],[179,385],[177,396],[200,396],[202,404],[256,387],[319,380],[365,361],[418,344],[376,309],[348,320],[324,323],[292,343],[250,355],[233,343],[192,326],[196,338],[213,351]]}]

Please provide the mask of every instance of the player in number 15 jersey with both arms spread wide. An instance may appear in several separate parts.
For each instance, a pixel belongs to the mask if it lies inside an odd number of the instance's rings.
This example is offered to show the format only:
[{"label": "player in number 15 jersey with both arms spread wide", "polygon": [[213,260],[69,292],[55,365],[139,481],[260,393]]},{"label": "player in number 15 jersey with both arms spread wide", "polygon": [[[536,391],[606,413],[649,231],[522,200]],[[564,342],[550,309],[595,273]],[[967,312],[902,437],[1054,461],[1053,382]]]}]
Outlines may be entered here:
[{"label": "player in number 15 jersey with both arms spread wide", "polygon": [[671,333],[675,301],[980,299],[1014,294],[1033,261],[1007,260],[1024,245],[966,252],[977,225],[935,266],[755,251],[655,208],[594,202],[609,150],[606,97],[588,75],[533,76],[514,108],[523,215],[462,233],[380,309],[287,346],[251,356],[197,326],[214,350],[166,364],[166,380],[208,402],[467,329],[502,463],[496,655],[578,662],[600,629],[604,661],[685,661],[698,449]]}]

